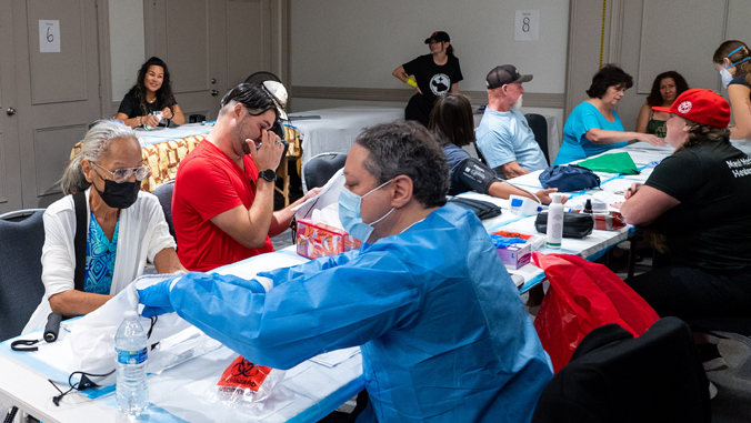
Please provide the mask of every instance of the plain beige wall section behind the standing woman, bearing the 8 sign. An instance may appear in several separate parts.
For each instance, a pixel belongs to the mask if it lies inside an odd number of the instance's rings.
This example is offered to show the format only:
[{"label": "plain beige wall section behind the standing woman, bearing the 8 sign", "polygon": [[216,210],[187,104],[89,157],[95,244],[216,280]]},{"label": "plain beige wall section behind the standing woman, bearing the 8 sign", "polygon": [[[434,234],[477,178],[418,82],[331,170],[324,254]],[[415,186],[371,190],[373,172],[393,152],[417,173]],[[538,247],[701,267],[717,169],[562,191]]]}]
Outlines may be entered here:
[{"label": "plain beige wall section behind the standing woman, bearing the 8 sign", "polygon": [[[485,74],[498,64],[512,63],[534,74],[524,84],[528,92],[564,92],[569,0],[291,0],[291,4],[292,87],[405,89],[391,71],[428,53],[423,40],[444,30],[461,62],[460,90],[484,91]],[[540,10],[539,41],[514,41],[514,12],[522,9]],[[301,103],[318,107],[309,100]],[[328,104],[331,100],[320,102]]]}]

